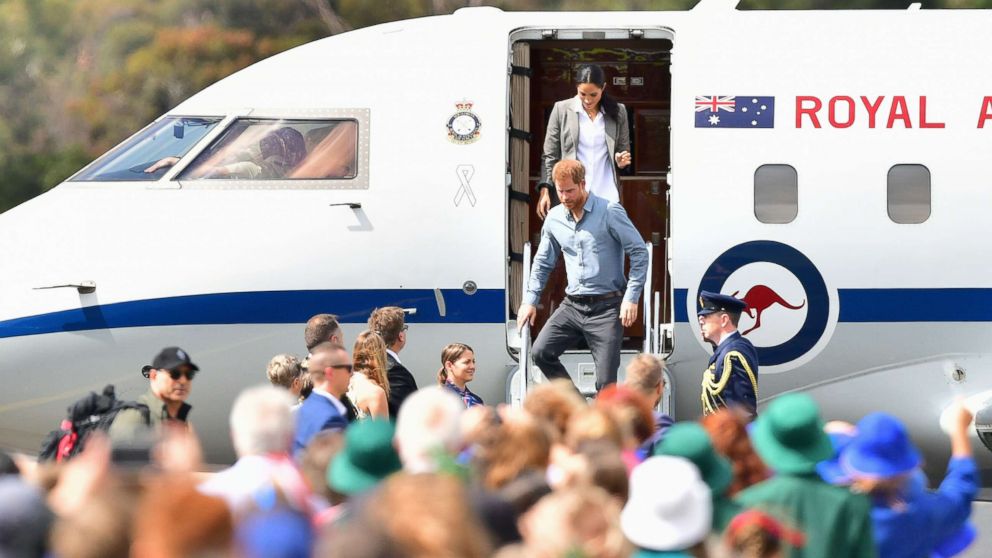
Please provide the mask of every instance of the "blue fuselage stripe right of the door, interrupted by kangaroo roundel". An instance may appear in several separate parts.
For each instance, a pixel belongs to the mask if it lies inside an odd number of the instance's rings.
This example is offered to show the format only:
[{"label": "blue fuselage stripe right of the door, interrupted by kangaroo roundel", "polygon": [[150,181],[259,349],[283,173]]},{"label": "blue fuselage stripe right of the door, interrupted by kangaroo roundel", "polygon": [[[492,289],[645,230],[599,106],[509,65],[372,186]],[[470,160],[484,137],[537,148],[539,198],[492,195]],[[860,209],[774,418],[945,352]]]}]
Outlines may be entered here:
[{"label": "blue fuselage stripe right of the door, interrupted by kangaroo roundel", "polygon": [[[687,289],[675,289],[675,321],[688,322]],[[992,289],[837,289],[839,322],[992,322]]]}]

